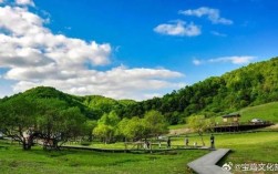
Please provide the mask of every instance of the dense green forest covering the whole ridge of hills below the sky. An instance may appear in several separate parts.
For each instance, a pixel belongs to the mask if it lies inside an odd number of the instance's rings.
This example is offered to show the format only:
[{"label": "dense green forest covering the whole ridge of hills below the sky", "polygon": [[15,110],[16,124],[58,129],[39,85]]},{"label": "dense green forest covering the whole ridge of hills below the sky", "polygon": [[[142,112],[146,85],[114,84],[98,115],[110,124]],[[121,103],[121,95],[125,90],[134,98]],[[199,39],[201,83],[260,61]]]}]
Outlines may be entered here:
[{"label": "dense green forest covering the whole ridge of hills below the sky", "polygon": [[143,117],[146,112],[156,110],[169,124],[177,124],[185,122],[185,117],[192,114],[210,117],[235,112],[245,106],[278,101],[278,58],[251,63],[222,76],[212,76],[173,91],[163,98],[142,102],[117,101],[100,95],[75,96],[54,88],[39,86],[3,98],[0,103],[19,96],[32,101],[43,99],[50,102],[55,99],[62,101],[68,108],[79,108],[81,113],[90,120],[99,120],[112,111],[121,120],[133,116]]}]

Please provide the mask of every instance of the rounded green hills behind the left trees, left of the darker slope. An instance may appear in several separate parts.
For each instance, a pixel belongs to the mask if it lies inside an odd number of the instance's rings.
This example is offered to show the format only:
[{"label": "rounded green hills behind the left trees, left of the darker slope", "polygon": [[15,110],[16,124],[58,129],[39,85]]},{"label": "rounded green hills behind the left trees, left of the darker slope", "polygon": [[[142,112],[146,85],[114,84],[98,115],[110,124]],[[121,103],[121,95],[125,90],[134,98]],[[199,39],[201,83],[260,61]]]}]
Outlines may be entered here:
[{"label": "rounded green hills behind the left trees, left of the darker slope", "polygon": [[1,102],[9,101],[13,98],[23,96],[25,99],[35,101],[35,100],[49,100],[55,99],[62,101],[68,105],[78,106],[81,112],[89,119],[97,120],[104,113],[109,113],[111,111],[115,111],[120,117],[124,116],[126,108],[131,104],[135,104],[136,102],[133,100],[114,100],[105,96],[100,95],[87,95],[87,96],[76,96],[63,93],[54,88],[51,86],[38,86],[30,90],[27,90],[23,93],[14,94],[10,98],[3,98],[0,100]]}]

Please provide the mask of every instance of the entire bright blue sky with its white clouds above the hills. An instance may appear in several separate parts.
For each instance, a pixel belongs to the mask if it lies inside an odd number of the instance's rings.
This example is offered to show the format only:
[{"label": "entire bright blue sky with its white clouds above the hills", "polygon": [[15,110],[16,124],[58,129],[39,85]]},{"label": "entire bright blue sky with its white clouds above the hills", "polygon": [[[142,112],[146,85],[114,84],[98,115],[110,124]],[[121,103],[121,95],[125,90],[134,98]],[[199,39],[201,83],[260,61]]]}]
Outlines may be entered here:
[{"label": "entire bright blue sky with its white clouds above the hills", "polygon": [[144,100],[278,55],[276,0],[0,0],[0,7],[7,45],[0,96],[52,85]]}]

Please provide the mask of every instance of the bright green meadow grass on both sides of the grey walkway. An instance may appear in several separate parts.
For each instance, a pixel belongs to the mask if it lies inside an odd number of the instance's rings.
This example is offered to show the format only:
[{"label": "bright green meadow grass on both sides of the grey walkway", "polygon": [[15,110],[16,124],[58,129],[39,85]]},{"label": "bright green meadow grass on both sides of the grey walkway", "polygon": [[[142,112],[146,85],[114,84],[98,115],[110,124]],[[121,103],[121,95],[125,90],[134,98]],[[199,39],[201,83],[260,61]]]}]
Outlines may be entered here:
[{"label": "bright green meadow grass on both sides of the grey walkway", "polygon": [[[210,134],[204,140],[209,146]],[[189,134],[189,145],[197,142],[199,136]],[[184,136],[172,137],[172,144],[184,146]],[[101,144],[99,144],[101,146]],[[231,149],[233,152],[219,165],[226,162],[244,163],[277,163],[278,162],[278,132],[257,132],[237,134],[215,134],[217,149]],[[123,143],[107,144],[106,149],[123,149]],[[189,173],[186,164],[206,154],[204,150],[174,150],[161,153],[104,153],[91,151],[43,151],[34,147],[22,151],[21,146],[0,142],[1,174],[94,174],[94,173]]]}]

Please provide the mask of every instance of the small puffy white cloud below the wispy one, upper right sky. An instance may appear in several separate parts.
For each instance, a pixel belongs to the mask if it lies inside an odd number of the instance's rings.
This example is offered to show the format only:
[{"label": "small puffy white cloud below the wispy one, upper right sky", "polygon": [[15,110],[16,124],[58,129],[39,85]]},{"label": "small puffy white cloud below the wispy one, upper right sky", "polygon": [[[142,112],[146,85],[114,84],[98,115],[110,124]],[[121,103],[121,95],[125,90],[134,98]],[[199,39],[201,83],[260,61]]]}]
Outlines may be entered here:
[{"label": "small puffy white cloud below the wispy one, upper right sky", "polygon": [[174,21],[172,23],[163,23],[154,28],[154,31],[166,35],[177,37],[196,37],[200,34],[200,28],[194,23],[186,23],[184,21]]}]

